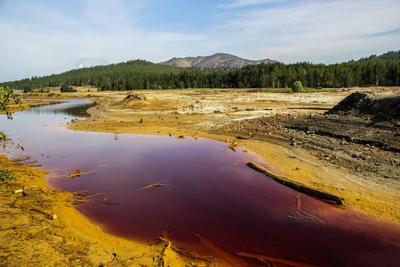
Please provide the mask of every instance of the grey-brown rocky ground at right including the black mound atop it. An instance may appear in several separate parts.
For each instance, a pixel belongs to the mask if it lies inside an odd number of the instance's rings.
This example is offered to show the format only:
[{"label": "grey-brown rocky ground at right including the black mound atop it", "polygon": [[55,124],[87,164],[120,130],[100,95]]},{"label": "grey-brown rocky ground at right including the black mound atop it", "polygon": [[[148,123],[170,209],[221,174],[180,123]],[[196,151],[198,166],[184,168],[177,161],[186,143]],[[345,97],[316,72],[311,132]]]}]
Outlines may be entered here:
[{"label": "grey-brown rocky ground at right including the black mound atop it", "polygon": [[400,189],[400,95],[356,92],[323,114],[276,115],[219,129],[269,140],[279,138],[320,160],[371,182]]}]

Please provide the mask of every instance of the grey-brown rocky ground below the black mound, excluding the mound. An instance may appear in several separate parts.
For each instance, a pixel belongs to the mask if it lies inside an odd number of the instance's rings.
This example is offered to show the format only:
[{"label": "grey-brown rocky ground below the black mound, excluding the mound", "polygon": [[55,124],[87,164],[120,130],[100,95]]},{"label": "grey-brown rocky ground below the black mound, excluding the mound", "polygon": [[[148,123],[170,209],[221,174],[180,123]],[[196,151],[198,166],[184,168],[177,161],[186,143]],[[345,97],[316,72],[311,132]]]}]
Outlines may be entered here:
[{"label": "grey-brown rocky ground below the black mound, excluding the mound", "polygon": [[290,114],[234,122],[216,132],[284,142],[359,178],[400,190],[400,123],[368,117]]}]

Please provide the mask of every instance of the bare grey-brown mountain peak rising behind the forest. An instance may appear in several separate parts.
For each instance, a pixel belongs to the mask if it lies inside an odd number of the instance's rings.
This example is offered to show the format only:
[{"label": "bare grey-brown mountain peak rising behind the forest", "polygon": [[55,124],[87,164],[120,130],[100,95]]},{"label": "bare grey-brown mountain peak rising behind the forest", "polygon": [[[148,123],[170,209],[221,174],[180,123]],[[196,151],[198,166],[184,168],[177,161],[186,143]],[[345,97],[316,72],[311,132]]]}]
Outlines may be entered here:
[{"label": "bare grey-brown mountain peak rising behind the forest", "polygon": [[169,65],[179,68],[201,68],[201,69],[237,69],[248,65],[257,65],[261,63],[277,63],[278,61],[272,59],[263,60],[250,60],[240,58],[230,54],[217,53],[211,56],[205,57],[184,57],[184,58],[172,58],[168,61],[161,62],[159,64]]}]

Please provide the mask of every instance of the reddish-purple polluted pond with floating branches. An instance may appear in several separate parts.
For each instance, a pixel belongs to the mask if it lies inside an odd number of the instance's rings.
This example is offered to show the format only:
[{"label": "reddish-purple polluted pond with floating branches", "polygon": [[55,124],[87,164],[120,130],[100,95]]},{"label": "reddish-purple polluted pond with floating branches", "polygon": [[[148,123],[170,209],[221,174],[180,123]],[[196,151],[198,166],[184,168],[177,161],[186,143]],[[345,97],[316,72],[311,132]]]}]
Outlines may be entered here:
[{"label": "reddish-purple polluted pond with floating branches", "polygon": [[[74,100],[1,116],[0,130],[13,140],[4,152],[50,170],[51,186],[97,193],[77,208],[105,231],[149,243],[164,237],[239,265],[261,264],[257,257],[295,266],[400,263],[398,228],[274,182],[246,166],[263,164],[256,155],[208,139],[68,130],[88,106]],[[85,175],[68,178],[76,169]]]}]

